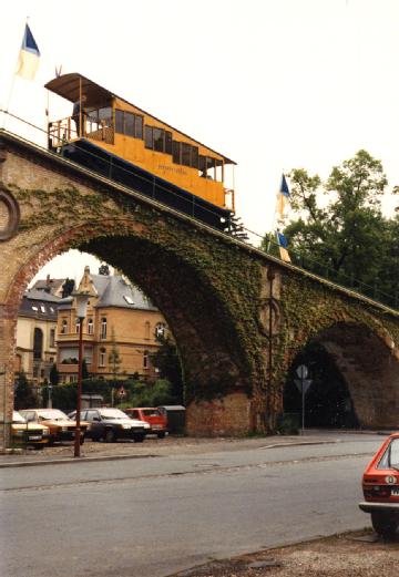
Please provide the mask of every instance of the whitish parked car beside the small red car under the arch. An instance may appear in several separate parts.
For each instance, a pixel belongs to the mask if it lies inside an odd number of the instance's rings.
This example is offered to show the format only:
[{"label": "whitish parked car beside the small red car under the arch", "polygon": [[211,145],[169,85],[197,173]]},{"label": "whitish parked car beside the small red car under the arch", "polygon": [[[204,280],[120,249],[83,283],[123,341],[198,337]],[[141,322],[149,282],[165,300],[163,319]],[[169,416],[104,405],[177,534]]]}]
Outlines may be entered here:
[{"label": "whitish parked car beside the small red car under the arch", "polygon": [[[75,418],[76,412],[70,413]],[[85,409],[81,411],[81,419],[89,423],[85,436],[93,441],[113,443],[119,439],[132,439],[135,443],[142,443],[150,425],[142,421],[130,419],[120,409]]]}]

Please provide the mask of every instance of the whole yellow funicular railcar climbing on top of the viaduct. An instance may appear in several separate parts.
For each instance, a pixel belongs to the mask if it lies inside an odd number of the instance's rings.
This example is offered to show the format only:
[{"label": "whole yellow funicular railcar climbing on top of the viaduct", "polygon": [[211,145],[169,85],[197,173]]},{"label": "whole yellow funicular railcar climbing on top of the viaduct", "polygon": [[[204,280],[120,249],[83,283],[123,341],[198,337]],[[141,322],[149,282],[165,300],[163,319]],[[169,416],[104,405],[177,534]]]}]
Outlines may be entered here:
[{"label": "whole yellow funicular railcar climbing on top of the viaduct", "polygon": [[49,122],[50,150],[228,229],[235,202],[226,171],[236,163],[81,74],[45,87],[73,103],[70,116]]}]

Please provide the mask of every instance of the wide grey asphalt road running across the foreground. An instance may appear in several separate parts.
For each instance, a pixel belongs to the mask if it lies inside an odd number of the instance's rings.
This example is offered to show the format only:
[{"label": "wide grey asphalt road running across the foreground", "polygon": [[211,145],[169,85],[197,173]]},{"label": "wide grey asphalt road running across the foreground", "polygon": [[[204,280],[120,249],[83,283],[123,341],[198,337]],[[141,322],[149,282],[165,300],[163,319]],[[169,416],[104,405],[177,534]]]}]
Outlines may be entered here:
[{"label": "wide grey asphalt road running across the foreground", "polygon": [[165,577],[369,525],[378,435],[338,443],[1,470],[1,577]]}]

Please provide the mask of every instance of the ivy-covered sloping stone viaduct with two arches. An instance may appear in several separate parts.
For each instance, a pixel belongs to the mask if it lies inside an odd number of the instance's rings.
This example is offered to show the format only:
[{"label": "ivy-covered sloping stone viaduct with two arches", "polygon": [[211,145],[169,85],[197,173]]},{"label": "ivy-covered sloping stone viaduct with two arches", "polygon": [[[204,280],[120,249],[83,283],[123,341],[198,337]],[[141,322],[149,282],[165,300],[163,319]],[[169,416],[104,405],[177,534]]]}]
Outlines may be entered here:
[{"label": "ivy-covered sloping stone viaduct with two arches", "polygon": [[188,434],[272,432],[286,372],[309,341],[332,356],[362,426],[399,424],[399,312],[1,130],[0,449],[22,295],[70,248],[121,269],[165,316]]}]

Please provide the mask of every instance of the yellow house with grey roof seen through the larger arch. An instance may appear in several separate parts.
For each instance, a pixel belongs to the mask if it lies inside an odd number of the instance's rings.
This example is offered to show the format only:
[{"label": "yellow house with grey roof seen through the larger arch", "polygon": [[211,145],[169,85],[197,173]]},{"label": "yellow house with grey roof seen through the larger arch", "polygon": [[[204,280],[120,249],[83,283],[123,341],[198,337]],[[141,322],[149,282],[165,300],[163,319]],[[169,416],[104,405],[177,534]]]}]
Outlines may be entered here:
[{"label": "yellow house with grey roof seen through the larger arch", "polygon": [[[167,330],[156,307],[117,272],[93,275],[85,267],[79,290],[91,296],[83,320],[83,354],[89,373],[106,380],[137,375],[155,379],[157,371],[151,354],[160,347],[156,336]],[[78,379],[78,354],[79,319],[71,296],[59,306],[57,365],[61,382]]]}]

